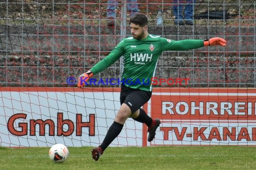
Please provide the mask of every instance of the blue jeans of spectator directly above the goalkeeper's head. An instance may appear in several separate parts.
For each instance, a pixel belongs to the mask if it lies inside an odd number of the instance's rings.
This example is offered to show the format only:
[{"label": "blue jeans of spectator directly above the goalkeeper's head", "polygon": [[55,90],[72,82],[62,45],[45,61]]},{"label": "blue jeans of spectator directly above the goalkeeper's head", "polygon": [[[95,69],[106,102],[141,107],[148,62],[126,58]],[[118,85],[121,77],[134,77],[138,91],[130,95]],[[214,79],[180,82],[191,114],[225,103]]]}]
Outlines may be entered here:
[{"label": "blue jeans of spectator directly above the goalkeeper's head", "polygon": [[[107,17],[115,18],[115,7],[118,0],[107,1]],[[131,17],[139,13],[137,0],[127,0],[127,9],[131,14]]]}]

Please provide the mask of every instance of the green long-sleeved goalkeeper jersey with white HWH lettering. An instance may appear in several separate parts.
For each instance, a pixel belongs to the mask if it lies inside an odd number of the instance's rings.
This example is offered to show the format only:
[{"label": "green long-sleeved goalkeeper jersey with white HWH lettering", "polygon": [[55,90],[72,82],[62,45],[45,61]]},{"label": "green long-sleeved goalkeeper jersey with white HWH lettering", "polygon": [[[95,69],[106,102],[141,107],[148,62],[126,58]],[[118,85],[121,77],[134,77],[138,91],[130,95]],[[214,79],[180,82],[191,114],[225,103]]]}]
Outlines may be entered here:
[{"label": "green long-sleeved goalkeeper jersey with white HWH lettering", "polygon": [[124,85],[152,91],[151,78],[163,51],[181,51],[203,47],[203,40],[186,39],[174,41],[149,34],[145,39],[124,38],[113,51],[95,64],[93,74],[103,71],[124,56],[124,72],[121,81]]}]

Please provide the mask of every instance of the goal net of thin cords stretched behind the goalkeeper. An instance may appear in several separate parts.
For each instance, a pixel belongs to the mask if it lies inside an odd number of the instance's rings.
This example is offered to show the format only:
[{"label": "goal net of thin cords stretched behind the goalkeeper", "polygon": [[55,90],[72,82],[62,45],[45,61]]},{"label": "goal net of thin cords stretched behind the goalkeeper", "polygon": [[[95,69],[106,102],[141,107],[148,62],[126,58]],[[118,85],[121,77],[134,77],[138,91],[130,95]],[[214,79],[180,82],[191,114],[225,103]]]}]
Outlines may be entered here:
[{"label": "goal net of thin cords stretched behind the goalkeeper", "polygon": [[[137,5],[136,5],[137,4]],[[2,0],[0,146],[98,146],[119,110],[123,60],[78,89],[77,78],[130,36],[136,11],[171,40],[225,38],[226,47],[164,51],[143,106],[155,139],[128,119],[110,146],[255,145],[254,0]],[[115,15],[108,26],[110,6]],[[192,9],[192,24],[185,10]],[[131,10],[132,9],[132,10]],[[175,10],[183,16],[176,23]],[[110,81],[111,80],[111,81]],[[114,81],[113,81],[114,80]]]}]

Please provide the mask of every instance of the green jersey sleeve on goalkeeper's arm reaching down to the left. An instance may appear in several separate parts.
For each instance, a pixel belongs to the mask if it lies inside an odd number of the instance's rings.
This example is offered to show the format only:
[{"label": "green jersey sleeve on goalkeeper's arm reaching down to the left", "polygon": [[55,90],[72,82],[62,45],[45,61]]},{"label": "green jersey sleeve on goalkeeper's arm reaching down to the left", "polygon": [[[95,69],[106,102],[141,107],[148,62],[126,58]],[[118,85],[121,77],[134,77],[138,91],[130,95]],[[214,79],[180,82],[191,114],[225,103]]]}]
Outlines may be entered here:
[{"label": "green jersey sleeve on goalkeeper's arm reaching down to the left", "polygon": [[118,60],[122,55],[124,55],[124,40],[121,41],[115,48],[112,50],[109,55],[107,55],[100,62],[95,64],[93,68],[90,70],[93,74],[97,74],[98,72],[102,72],[106,68],[108,68],[111,64],[114,64],[116,60]]}]

